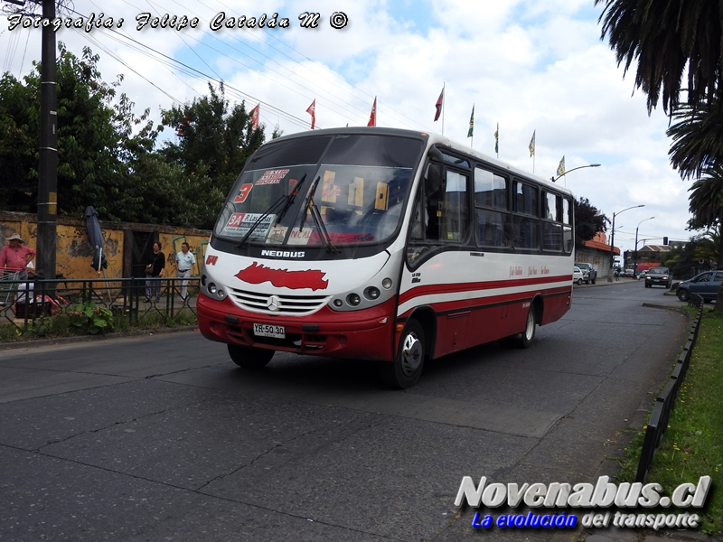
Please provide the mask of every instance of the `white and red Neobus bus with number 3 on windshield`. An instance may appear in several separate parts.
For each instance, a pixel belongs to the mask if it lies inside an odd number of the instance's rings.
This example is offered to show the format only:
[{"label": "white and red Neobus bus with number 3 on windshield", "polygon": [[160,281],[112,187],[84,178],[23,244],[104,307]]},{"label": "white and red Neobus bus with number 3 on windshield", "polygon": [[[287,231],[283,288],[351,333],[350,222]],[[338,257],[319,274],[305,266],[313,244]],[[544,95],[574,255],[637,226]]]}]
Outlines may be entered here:
[{"label": "white and red Neobus bus with number 3 on windshield", "polygon": [[278,138],[249,158],[213,229],[201,332],[241,367],[277,350],[376,360],[397,388],[426,359],[498,339],[528,347],[570,306],[572,203],[439,135]]}]

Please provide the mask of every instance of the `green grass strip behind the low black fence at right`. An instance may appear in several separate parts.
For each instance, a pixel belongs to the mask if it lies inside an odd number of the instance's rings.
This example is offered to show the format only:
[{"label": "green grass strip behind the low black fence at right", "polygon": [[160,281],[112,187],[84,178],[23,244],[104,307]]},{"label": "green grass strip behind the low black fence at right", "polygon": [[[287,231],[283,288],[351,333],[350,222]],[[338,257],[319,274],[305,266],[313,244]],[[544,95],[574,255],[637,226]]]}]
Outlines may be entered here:
[{"label": "green grass strip behind the low black fence at right", "polygon": [[[656,450],[646,483],[657,482],[670,494],[683,482],[712,478],[700,514],[702,533],[723,533],[723,314],[707,310],[700,321],[690,368],[678,393],[668,429]],[[644,428],[634,436],[621,463],[620,481],[634,481]],[[665,509],[674,513],[674,509]]]}]

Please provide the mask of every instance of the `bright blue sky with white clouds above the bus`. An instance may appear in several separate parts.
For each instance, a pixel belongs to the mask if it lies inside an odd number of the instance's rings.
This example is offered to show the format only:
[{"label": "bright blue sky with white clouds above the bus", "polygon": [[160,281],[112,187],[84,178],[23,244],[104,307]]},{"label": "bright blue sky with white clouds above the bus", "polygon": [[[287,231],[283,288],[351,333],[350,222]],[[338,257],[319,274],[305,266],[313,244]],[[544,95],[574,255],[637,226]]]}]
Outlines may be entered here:
[{"label": "bright blue sky with white clouds above the bus", "polygon": [[[5,1],[0,0],[5,6]],[[686,240],[688,189],[668,161],[668,119],[648,116],[645,96],[634,92],[634,72],[624,78],[600,40],[593,0],[420,0],[332,2],[290,0],[65,0],[60,14],[112,18],[113,31],[61,28],[57,39],[70,51],[89,46],[100,55],[103,79],[118,74],[120,90],[140,112],[191,101],[223,80],[227,98],[261,104],[261,122],[285,134],[309,128],[306,108],[316,100],[316,126],[366,126],[377,98],[377,126],[444,135],[494,155],[499,124],[500,159],[559,182],[615,218],[615,246],[634,248],[643,239]],[[99,8],[103,6],[103,10]],[[140,30],[136,17],[169,14],[198,18],[195,29]],[[287,27],[248,28],[277,14]],[[302,14],[318,14],[316,28]],[[143,16],[141,15],[141,18]],[[118,28],[118,20],[123,23]],[[221,21],[219,30],[212,30]],[[227,23],[235,23],[228,28]],[[341,28],[334,28],[341,26]],[[2,71],[23,77],[40,59],[41,31],[0,20]],[[445,88],[444,116],[434,122]],[[468,138],[474,106],[474,137]],[[528,145],[535,133],[535,155]],[[168,132],[166,137],[173,137]],[[644,205],[643,208],[627,208]],[[653,220],[647,220],[654,217]],[[643,221],[644,220],[644,221]],[[641,223],[642,222],[642,223]],[[609,233],[609,232],[608,232]]]}]

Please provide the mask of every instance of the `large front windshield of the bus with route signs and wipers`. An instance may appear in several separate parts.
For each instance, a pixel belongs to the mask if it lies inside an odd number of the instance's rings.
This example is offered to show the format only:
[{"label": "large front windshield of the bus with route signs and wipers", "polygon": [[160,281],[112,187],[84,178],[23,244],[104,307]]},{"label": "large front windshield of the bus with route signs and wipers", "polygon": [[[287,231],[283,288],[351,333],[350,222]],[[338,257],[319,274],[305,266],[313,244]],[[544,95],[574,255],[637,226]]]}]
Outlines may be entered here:
[{"label": "large front windshield of the bus with route signs and wipers", "polygon": [[214,235],[262,245],[382,242],[399,228],[423,146],[391,135],[271,142],[249,159]]}]

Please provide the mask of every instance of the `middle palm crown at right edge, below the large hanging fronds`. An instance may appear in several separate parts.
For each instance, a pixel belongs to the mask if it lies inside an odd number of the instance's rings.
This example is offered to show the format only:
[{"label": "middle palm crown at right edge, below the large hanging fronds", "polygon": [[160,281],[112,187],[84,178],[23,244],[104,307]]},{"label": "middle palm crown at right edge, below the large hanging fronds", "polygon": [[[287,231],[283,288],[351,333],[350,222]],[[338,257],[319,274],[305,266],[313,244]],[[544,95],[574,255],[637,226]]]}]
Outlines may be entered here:
[{"label": "middle palm crown at right edge, below the large hanging fronds", "polygon": [[697,106],[683,105],[672,115],[667,135],[672,138],[672,166],[682,179],[700,177],[723,167],[723,102],[714,98]]}]

